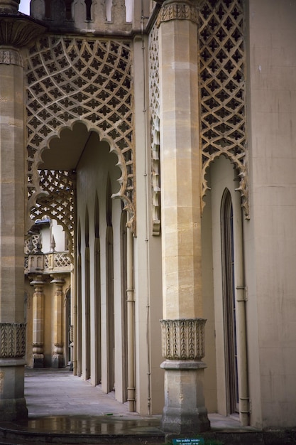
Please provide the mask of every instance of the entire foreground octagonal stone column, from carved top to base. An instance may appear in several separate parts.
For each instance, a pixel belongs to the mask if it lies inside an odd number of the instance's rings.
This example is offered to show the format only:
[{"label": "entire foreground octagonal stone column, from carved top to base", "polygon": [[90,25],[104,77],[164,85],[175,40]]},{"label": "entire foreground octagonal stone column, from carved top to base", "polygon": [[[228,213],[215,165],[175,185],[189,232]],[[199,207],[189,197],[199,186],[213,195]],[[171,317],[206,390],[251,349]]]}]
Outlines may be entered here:
[{"label": "entire foreground octagonal stone column, from carved top to base", "polygon": [[165,433],[209,429],[204,407],[197,3],[165,0],[158,17]]}]

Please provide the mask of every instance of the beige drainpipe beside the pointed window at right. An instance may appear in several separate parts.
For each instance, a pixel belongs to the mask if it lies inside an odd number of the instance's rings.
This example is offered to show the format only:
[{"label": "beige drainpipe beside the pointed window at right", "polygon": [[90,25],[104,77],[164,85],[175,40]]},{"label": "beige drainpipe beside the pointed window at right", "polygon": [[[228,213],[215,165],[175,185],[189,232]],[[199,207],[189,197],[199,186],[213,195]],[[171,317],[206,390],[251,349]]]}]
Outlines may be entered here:
[{"label": "beige drainpipe beside the pointed window at right", "polygon": [[[241,224],[241,218],[238,222]],[[237,339],[238,348],[238,367],[239,367],[239,419],[242,427],[249,424],[249,397],[248,397],[248,357],[247,357],[247,340],[246,340],[246,286],[243,268],[243,233],[236,237],[236,257],[241,259],[236,269],[236,311],[237,311]]]}]

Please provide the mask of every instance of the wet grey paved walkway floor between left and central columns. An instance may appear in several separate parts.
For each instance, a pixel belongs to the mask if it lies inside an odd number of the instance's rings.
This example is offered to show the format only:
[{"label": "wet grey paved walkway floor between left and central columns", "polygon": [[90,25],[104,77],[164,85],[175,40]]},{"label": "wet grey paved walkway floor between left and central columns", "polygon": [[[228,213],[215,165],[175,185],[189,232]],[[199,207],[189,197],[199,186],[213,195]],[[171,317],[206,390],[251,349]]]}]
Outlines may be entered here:
[{"label": "wet grey paved walkway floor between left and central columns", "polygon": [[160,434],[160,416],[141,417],[116,402],[114,393],[68,370],[26,370],[29,426],[38,431],[85,434]]}]

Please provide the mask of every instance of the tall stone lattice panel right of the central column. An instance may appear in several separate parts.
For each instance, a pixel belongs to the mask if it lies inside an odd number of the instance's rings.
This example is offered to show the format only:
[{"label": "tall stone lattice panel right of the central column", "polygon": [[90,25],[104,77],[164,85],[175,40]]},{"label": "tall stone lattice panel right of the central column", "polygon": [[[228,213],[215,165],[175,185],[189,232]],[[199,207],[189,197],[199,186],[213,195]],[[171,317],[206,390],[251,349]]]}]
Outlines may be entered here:
[{"label": "tall stone lattice panel right of the central column", "polygon": [[[207,0],[199,11],[202,196],[206,170],[224,154],[237,168],[248,218],[243,0]],[[204,203],[202,202],[202,205]]]}]

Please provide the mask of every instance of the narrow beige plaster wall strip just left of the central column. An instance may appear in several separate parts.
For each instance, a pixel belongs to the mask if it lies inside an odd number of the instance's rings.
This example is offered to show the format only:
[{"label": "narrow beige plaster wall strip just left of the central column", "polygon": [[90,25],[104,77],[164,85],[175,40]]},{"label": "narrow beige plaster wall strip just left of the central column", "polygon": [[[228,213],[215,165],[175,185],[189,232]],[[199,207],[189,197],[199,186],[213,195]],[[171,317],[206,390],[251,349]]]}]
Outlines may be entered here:
[{"label": "narrow beige plaster wall strip just left of the central column", "polygon": [[[147,3],[147,2],[146,2]],[[135,148],[136,148],[136,237],[134,238],[134,286],[136,308],[136,399],[137,411],[160,414],[164,405],[164,375],[160,368],[160,319],[163,318],[161,237],[153,236],[151,154],[147,63],[148,42],[134,42]]]}]

